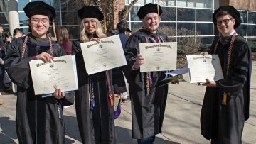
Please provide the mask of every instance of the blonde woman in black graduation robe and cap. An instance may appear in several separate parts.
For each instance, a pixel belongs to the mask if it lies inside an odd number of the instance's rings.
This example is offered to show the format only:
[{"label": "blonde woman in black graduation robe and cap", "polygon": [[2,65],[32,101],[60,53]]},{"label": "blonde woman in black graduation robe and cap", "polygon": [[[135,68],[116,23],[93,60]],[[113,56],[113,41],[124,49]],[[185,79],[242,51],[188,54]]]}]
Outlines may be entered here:
[{"label": "blonde woman in black graduation robe and cap", "polygon": [[75,111],[82,143],[116,143],[111,103],[113,94],[126,92],[124,79],[114,77],[112,70],[87,74],[80,43],[106,37],[100,25],[103,13],[95,6],[84,6],[78,10],[78,16],[81,18],[80,39],[73,40],[72,48],[78,69]]}]

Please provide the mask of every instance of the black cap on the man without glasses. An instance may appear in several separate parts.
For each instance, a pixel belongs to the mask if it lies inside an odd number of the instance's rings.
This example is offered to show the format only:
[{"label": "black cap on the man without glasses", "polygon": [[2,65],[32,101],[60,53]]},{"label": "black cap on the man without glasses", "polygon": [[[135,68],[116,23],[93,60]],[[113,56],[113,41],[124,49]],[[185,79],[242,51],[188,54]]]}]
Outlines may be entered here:
[{"label": "black cap on the man without glasses", "polygon": [[[144,6],[139,8],[137,16],[139,17],[139,19],[143,19],[148,13],[158,13],[157,6],[159,5],[152,3],[145,4]],[[161,6],[159,6],[159,15],[161,15],[162,12],[163,11],[161,10]]]}]

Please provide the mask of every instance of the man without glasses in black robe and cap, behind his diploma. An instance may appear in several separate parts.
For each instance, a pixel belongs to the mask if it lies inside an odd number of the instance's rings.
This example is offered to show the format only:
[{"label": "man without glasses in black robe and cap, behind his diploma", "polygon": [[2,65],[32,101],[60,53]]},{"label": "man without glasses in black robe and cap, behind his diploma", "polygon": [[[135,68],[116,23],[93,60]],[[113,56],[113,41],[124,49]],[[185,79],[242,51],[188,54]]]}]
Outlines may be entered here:
[{"label": "man without glasses in black robe and cap, behind his diploma", "polygon": [[[124,73],[129,83],[132,100],[132,138],[138,143],[153,143],[156,134],[161,133],[164,120],[168,84],[159,87],[159,82],[166,77],[165,72],[139,72],[144,57],[139,54],[139,43],[167,42],[168,38],[159,33],[159,14],[156,4],[142,6],[137,15],[144,27],[129,36],[125,47],[127,67]],[[149,80],[147,80],[149,79]]]}]

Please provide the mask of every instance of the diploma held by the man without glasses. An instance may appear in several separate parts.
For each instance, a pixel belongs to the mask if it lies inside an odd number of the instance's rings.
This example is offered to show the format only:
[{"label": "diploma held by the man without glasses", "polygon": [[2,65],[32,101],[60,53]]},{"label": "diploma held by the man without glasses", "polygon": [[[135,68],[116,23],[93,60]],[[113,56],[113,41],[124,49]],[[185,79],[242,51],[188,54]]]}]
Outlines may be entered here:
[{"label": "diploma held by the man without glasses", "polygon": [[145,58],[140,72],[176,70],[176,42],[139,43],[139,53]]}]

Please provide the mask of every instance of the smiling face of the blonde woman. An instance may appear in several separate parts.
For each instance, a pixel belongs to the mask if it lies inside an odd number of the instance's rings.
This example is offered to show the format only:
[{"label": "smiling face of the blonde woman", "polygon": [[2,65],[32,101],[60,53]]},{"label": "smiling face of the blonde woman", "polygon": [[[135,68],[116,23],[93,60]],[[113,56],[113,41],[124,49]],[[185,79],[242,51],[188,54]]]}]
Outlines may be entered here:
[{"label": "smiling face of the blonde woman", "polygon": [[83,19],[85,31],[88,34],[92,34],[96,32],[97,21],[95,18],[85,18]]}]

